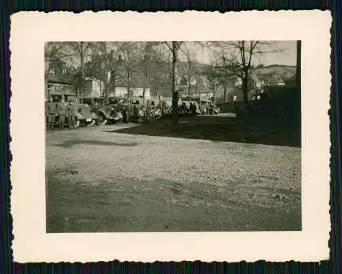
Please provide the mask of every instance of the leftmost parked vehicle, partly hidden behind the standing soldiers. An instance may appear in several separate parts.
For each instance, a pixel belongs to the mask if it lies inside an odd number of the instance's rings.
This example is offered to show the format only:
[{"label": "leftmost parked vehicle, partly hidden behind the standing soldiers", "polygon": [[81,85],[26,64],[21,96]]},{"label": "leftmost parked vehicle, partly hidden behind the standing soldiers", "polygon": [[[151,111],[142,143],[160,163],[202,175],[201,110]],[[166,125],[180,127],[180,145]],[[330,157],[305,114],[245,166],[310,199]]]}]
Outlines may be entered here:
[{"label": "leftmost parked vehicle, partly hidden behind the standing soldiers", "polygon": [[[60,97],[54,96],[53,102],[57,104],[60,101]],[[65,105],[68,105],[69,102],[64,102]],[[92,109],[85,104],[81,104],[77,102],[77,100],[70,100],[70,105],[73,107],[73,112],[75,113],[73,127],[78,128],[80,125],[82,126],[93,126],[97,120],[97,115],[92,111]],[[70,118],[66,117],[66,120]],[[68,122],[68,121],[66,121]],[[59,126],[59,115],[55,116],[55,126]]]}]

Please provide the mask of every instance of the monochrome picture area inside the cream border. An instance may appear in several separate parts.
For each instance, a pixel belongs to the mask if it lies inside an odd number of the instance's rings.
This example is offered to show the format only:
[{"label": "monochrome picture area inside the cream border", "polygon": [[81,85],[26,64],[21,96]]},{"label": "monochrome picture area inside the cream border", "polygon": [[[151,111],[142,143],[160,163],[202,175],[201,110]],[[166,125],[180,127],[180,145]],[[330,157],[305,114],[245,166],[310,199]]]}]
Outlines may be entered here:
[{"label": "monochrome picture area inside the cream border", "polygon": [[47,233],[301,230],[300,51],[47,42]]}]

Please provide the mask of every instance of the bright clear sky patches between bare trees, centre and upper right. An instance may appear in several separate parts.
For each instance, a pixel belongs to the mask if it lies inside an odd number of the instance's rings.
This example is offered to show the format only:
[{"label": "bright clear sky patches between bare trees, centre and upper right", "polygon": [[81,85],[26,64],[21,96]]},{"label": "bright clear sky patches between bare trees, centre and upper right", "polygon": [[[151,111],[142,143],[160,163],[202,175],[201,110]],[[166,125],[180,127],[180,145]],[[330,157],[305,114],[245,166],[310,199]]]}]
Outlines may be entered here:
[{"label": "bright clear sky patches between bare trees, centre and upper right", "polygon": [[[295,66],[296,57],[297,57],[297,49],[296,41],[277,41],[275,42],[278,48],[282,49],[282,53],[267,53],[265,57],[261,59],[265,66],[278,64],[278,65],[287,65],[287,66]],[[187,49],[194,53],[194,58],[200,62],[209,64],[210,55],[212,51],[205,47],[202,47],[200,44],[196,42],[187,42]],[[181,57],[181,59],[185,59]],[[182,60],[183,61],[183,60]],[[185,60],[184,60],[185,61]]]}]

